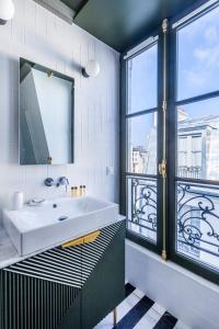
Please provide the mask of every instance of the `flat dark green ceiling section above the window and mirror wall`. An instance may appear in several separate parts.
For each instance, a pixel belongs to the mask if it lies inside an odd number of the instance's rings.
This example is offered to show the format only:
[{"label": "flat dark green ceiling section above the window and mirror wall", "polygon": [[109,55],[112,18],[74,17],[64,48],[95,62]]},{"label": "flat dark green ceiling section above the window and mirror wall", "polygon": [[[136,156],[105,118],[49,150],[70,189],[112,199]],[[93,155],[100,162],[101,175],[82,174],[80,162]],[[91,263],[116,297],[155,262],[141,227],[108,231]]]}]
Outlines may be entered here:
[{"label": "flat dark green ceiling section above the window and mirror wall", "polygon": [[163,19],[201,0],[62,1],[77,11],[76,24],[116,50],[124,52],[157,29]]}]

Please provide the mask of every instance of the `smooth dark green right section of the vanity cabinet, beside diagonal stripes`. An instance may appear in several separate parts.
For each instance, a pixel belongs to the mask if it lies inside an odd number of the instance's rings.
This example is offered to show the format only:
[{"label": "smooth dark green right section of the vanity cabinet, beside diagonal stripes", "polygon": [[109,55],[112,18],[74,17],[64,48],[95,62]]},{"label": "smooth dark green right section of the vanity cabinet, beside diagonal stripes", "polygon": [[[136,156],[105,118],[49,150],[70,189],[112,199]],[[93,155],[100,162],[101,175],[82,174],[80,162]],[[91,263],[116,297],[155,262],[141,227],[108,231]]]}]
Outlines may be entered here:
[{"label": "smooth dark green right section of the vanity cabinet, beside diagonal stripes", "polygon": [[[124,299],[124,227],[120,227],[82,290],[83,329],[93,328]],[[82,257],[82,270],[84,266],[87,262]]]}]

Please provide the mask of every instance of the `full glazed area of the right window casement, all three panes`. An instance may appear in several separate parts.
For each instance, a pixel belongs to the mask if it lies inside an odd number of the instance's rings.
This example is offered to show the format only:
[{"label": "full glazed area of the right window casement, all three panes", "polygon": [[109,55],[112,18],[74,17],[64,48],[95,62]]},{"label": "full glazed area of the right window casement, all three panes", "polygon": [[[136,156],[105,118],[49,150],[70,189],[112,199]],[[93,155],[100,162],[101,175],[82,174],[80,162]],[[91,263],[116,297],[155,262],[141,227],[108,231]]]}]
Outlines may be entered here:
[{"label": "full glazed area of the right window casement, all three panes", "polygon": [[175,248],[219,270],[219,8],[175,34]]}]

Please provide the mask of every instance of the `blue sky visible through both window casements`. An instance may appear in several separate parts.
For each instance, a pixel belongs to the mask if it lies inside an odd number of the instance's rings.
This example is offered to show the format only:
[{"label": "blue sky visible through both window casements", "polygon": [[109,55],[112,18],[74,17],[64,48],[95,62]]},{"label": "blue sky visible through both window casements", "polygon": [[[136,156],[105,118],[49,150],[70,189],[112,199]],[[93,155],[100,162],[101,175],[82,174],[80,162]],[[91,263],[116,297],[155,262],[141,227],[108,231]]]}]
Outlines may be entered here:
[{"label": "blue sky visible through both window casements", "polygon": [[[131,61],[129,113],[157,106],[157,45]],[[219,90],[219,7],[178,30],[177,100]],[[183,107],[191,118],[219,115],[219,98]],[[131,141],[145,144],[152,115],[131,120]]]}]

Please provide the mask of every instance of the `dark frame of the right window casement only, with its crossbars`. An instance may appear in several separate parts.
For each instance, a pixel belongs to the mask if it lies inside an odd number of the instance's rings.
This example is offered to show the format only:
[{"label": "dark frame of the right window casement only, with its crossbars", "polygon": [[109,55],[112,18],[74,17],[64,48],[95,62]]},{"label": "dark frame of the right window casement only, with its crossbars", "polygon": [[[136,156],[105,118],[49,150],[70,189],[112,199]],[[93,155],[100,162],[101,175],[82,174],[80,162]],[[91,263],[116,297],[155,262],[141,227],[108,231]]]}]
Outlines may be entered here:
[{"label": "dark frame of the right window casement only, with its crossbars", "polygon": [[[203,2],[197,4],[196,8],[198,8]],[[196,261],[195,259],[191,259],[186,256],[183,256],[183,253],[178,253],[176,251],[176,242],[177,242],[177,236],[176,236],[176,206],[177,206],[177,200],[176,200],[176,182],[188,182],[188,183],[200,183],[205,185],[216,185],[219,188],[219,181],[214,180],[200,180],[200,179],[185,179],[185,178],[178,178],[176,173],[176,159],[177,159],[177,106],[195,103],[198,101],[205,101],[209,100],[216,97],[219,97],[219,90],[214,92],[207,92],[200,95],[196,95],[193,98],[184,99],[177,101],[177,29],[182,29],[185,25],[188,25],[191,22],[199,19],[200,16],[205,15],[210,10],[214,10],[214,8],[218,7],[219,3],[212,3],[207,9],[203,10],[201,12],[197,13],[193,18],[188,18],[186,21],[184,21],[182,24],[180,24],[177,27],[172,29],[170,26],[170,57],[169,57],[169,65],[170,65],[170,81],[169,81],[169,120],[168,120],[168,186],[169,186],[169,196],[168,196],[168,214],[169,214],[169,223],[168,223],[168,230],[170,232],[170,236],[173,237],[172,239],[168,240],[169,246],[169,258],[171,261],[177,263],[178,265],[182,265],[183,268],[194,272],[195,274],[198,274],[199,276],[203,276],[209,281],[212,281],[214,283],[219,284],[219,270],[214,270],[214,268],[208,266],[207,264],[204,264],[201,262]],[[184,18],[186,14],[189,14],[194,10],[189,9],[188,11],[185,11],[182,13],[181,16],[177,16],[176,19],[173,19],[171,21],[172,24],[174,24],[176,21],[178,21],[181,18]],[[172,25],[171,24],[171,25]],[[172,81],[172,83],[171,83]],[[171,150],[175,150],[175,152],[171,152]]]}]

